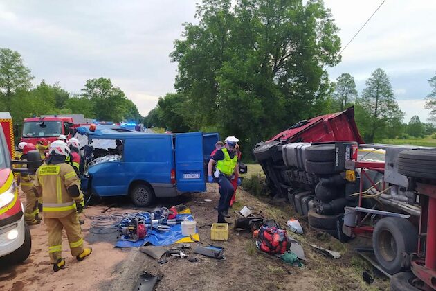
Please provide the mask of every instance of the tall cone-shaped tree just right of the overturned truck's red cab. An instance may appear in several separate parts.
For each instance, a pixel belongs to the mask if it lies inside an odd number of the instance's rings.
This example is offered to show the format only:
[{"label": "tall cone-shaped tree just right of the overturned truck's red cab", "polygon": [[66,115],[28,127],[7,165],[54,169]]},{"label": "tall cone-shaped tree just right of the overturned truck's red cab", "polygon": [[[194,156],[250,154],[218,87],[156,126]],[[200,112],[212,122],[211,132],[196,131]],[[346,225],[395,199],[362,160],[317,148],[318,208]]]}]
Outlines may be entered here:
[{"label": "tall cone-shaped tree just right of the overturned truck's red cab", "polygon": [[404,118],[404,113],[395,100],[388,75],[382,69],[371,73],[359,102],[370,114],[370,124],[365,136],[368,143],[383,138],[386,128],[394,129]]}]

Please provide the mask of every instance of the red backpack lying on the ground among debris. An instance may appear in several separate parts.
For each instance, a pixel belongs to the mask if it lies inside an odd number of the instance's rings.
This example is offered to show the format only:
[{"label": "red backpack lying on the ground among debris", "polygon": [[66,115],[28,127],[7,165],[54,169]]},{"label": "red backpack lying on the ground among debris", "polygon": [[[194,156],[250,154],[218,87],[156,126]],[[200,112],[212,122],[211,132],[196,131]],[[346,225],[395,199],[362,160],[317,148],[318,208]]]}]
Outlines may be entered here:
[{"label": "red backpack lying on the ground among debris", "polygon": [[288,236],[284,229],[262,225],[258,234],[258,245],[268,254],[283,254],[287,251]]}]

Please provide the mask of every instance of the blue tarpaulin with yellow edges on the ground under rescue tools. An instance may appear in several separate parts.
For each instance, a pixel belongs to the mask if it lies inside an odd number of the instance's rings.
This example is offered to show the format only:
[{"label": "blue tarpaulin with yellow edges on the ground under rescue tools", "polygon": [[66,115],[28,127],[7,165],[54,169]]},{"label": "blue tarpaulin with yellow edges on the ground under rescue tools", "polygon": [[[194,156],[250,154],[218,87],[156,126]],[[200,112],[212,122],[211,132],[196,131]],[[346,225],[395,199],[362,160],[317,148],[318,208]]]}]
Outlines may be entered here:
[{"label": "blue tarpaulin with yellow edges on the ground under rescue tools", "polygon": [[[185,209],[181,213],[176,215],[177,220],[188,219],[194,220],[190,209]],[[195,234],[192,236],[195,240],[200,240],[198,229],[195,229]],[[192,243],[193,240],[189,236],[182,236],[181,234],[181,224],[175,224],[170,226],[170,231],[158,231],[153,229],[147,232],[147,236],[142,240],[136,242],[130,242],[127,240],[118,240],[115,247],[140,247],[145,244],[151,245],[172,245],[174,243]]]}]

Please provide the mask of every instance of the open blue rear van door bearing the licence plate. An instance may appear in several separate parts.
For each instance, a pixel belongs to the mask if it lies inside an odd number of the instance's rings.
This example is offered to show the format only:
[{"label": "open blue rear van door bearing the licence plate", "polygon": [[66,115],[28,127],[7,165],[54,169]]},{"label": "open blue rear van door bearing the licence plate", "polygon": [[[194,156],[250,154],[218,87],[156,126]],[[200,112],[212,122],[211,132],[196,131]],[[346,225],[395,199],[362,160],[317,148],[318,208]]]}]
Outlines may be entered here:
[{"label": "open blue rear van door bearing the licence plate", "polygon": [[206,191],[203,161],[203,133],[176,134],[177,190],[181,192]]}]

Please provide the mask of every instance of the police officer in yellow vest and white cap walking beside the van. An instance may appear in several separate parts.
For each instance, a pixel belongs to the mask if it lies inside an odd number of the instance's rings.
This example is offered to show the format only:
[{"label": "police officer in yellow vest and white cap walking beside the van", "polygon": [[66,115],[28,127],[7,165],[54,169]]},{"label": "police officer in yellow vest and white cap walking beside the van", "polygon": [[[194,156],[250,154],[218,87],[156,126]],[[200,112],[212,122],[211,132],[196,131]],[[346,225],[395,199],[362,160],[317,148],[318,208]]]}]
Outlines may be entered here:
[{"label": "police officer in yellow vest and white cap walking beside the van", "polygon": [[[228,136],[224,148],[217,150],[208,164],[208,182],[212,183],[216,179],[219,184],[218,223],[226,223],[225,218],[230,217],[227,211],[235,191],[231,181],[235,178],[235,173],[238,170],[237,155],[235,155],[235,145],[238,141],[235,136]],[[215,164],[218,173],[215,173],[215,177],[213,177],[212,168]]]}]

